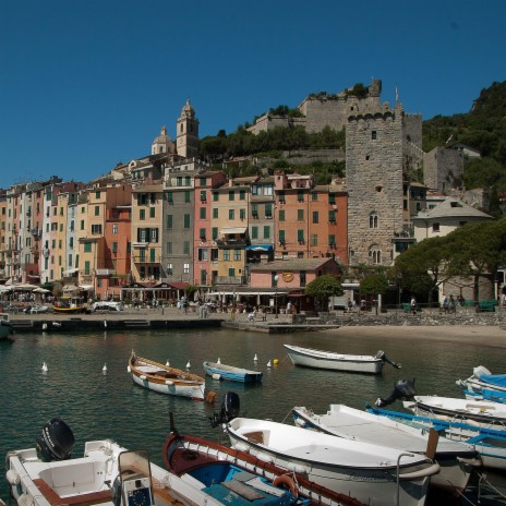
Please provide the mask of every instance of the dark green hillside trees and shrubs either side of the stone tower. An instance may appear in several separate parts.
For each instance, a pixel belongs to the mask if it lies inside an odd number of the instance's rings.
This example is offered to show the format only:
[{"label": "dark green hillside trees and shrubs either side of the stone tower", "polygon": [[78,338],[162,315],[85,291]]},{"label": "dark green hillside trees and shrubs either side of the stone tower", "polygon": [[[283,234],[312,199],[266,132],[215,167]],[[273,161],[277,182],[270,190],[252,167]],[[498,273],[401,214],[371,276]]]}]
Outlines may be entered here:
[{"label": "dark green hillside trees and shrubs either side of the stone tower", "polygon": [[[278,106],[270,112],[293,116],[288,106]],[[212,162],[221,164],[231,157],[267,158],[269,167],[282,168],[287,172],[314,173],[318,183],[327,183],[333,174],[344,174],[345,164],[311,164],[301,167],[291,165],[281,152],[312,148],[345,148],[345,130],[336,132],[326,128],[320,133],[309,134],[303,128],[276,128],[253,135],[248,123],[228,134],[221,130],[216,136],[204,137],[200,144],[201,156]],[[461,142],[480,150],[481,158],[465,166],[465,185],[491,189],[491,200],[506,192],[506,82],[493,83],[482,89],[470,112],[454,116],[436,116],[423,122],[423,149]],[[274,161],[273,161],[274,160]],[[221,166],[219,166],[221,167]],[[230,169],[230,176],[251,176],[260,168],[243,164]]]}]

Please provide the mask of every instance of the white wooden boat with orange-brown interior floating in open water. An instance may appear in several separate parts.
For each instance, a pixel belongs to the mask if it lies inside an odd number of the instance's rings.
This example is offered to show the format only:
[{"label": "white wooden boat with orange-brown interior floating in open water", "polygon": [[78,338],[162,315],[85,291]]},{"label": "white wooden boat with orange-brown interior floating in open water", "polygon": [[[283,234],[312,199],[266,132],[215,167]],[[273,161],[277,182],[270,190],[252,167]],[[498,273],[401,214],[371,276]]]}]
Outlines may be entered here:
[{"label": "white wooden boat with orange-brown interior floating in open water", "polygon": [[135,384],[160,394],[204,400],[205,380],[196,374],[138,357],[129,359],[128,372]]}]

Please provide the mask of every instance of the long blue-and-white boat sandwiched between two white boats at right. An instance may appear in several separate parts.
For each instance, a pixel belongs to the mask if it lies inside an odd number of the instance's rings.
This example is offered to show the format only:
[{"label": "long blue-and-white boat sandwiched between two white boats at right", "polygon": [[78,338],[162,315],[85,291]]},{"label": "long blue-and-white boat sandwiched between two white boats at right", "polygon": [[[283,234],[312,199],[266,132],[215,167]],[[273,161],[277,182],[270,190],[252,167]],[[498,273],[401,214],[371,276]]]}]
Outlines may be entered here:
[{"label": "long blue-and-white boat sandwiched between two white boats at right", "polygon": [[489,429],[455,420],[400,413],[371,406],[366,407],[366,411],[410,426],[435,429],[439,433],[439,437],[473,445],[480,454],[484,467],[506,470],[506,430]]}]

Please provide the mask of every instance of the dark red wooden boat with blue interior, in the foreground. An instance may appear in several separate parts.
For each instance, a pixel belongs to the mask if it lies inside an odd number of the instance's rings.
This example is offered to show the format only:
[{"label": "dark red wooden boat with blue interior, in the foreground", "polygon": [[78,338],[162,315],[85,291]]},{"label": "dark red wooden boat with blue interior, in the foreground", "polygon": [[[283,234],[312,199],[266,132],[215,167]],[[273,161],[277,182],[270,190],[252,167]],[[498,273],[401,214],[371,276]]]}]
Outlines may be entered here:
[{"label": "dark red wooden boat with blue interior, in the foreground", "polygon": [[[360,506],[362,503],[317,485],[297,473],[202,437],[171,433],[164,445],[167,469],[191,480],[215,498],[227,497],[230,506],[244,505],[242,496],[263,505]],[[234,497],[230,491],[239,494]],[[264,497],[256,496],[255,493]]]}]

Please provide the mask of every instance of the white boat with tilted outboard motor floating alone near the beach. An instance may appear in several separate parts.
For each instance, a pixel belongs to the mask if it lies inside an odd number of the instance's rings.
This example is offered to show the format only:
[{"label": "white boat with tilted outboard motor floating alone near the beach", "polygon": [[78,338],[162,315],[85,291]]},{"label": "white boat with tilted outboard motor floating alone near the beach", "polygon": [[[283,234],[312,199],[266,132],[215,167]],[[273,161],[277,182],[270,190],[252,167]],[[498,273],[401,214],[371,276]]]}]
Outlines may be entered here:
[{"label": "white boat with tilted outboard motor floating alone near the beach", "polygon": [[400,368],[399,364],[386,357],[383,351],[375,356],[344,354],[334,351],[301,348],[300,346],[284,345],[288,350],[288,357],[294,365],[313,369],[328,369],[332,371],[345,371],[352,373],[380,374],[385,362]]}]

